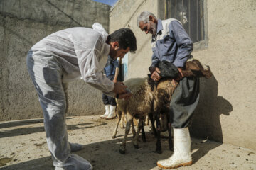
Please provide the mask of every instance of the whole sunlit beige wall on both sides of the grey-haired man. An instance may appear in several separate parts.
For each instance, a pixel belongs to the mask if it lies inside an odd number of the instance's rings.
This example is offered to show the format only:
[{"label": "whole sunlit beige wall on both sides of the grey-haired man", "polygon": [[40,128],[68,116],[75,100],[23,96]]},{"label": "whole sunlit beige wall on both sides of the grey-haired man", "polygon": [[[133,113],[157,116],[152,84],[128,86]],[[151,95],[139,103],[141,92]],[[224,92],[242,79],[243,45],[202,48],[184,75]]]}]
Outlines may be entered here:
[{"label": "whole sunlit beige wall on both sides of the grey-haired man", "polygon": [[[205,0],[204,4],[208,46],[192,55],[210,65],[214,76],[201,79],[191,134],[256,150],[256,1]],[[137,37],[137,53],[129,54],[129,78],[146,77],[151,64],[151,35],[136,23],[142,11],[157,16],[157,1],[119,0],[110,11],[110,30],[129,25]]]}]

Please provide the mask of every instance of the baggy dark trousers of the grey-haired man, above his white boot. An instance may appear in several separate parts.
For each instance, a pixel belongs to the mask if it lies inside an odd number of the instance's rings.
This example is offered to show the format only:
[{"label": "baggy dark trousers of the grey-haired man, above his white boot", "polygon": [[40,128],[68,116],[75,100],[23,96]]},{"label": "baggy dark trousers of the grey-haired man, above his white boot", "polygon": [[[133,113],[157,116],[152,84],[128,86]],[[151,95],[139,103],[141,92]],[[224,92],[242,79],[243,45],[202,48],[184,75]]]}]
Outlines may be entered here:
[{"label": "baggy dark trousers of the grey-haired man, above his white boot", "polygon": [[173,128],[191,125],[193,111],[199,101],[199,79],[184,77],[171,97],[169,118]]}]

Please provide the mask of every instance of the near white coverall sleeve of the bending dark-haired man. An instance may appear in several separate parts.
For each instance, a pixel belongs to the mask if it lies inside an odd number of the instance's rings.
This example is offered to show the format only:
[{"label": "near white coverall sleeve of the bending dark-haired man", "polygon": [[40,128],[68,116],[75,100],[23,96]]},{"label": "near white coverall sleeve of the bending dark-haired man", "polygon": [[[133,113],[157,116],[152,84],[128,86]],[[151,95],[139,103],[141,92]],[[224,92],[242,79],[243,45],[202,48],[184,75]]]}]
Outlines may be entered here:
[{"label": "near white coverall sleeve of the bending dark-haired man", "polygon": [[107,94],[107,96],[114,97],[114,83],[110,79],[107,79],[103,75],[103,69],[100,69],[99,60],[102,59],[100,55],[102,55],[102,50],[104,50],[102,48],[106,47],[105,42],[101,39],[100,37],[97,38],[95,45],[92,45],[91,49],[82,49],[80,45],[75,45],[75,53],[78,57],[78,66],[82,79],[87,84],[90,84],[90,86]]}]

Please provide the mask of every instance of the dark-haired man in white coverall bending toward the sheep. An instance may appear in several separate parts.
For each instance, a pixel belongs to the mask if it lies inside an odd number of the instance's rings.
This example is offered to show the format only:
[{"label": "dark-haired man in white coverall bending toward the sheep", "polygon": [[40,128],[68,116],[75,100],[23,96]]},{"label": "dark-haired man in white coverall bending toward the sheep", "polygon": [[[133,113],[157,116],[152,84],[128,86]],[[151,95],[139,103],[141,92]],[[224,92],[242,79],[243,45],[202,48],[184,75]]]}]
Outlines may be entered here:
[{"label": "dark-haired man in white coverall bending toward the sheep", "polygon": [[68,28],[48,35],[31,47],[27,56],[30,77],[43,108],[48,148],[55,170],[87,170],[92,165],[72,151],[82,145],[68,142],[65,113],[68,109],[68,82],[84,79],[108,96],[129,98],[127,86],[107,79],[102,70],[107,56],[124,57],[137,50],[132,30],[122,28],[108,35],[99,23],[91,28]]}]

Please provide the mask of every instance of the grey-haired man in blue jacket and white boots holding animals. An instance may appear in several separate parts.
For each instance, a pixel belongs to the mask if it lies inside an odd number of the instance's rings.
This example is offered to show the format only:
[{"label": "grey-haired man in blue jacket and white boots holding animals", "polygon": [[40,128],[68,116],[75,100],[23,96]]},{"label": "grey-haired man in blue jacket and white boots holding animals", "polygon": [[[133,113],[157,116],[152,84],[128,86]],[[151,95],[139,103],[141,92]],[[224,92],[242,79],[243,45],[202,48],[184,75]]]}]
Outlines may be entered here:
[{"label": "grey-haired man in blue jacket and white boots holding animals", "polygon": [[[181,70],[191,57],[193,42],[181,25],[181,22],[170,18],[161,21],[150,12],[142,12],[137,18],[137,26],[146,34],[152,34],[151,79],[159,81],[161,76],[158,64],[168,61],[174,64],[179,72],[177,86],[170,103],[170,120],[174,128],[174,154],[168,159],[157,162],[162,169],[192,164],[191,139],[188,126],[191,124],[193,111],[199,100],[199,79],[183,77]],[[154,69],[152,69],[154,68]]]}]

